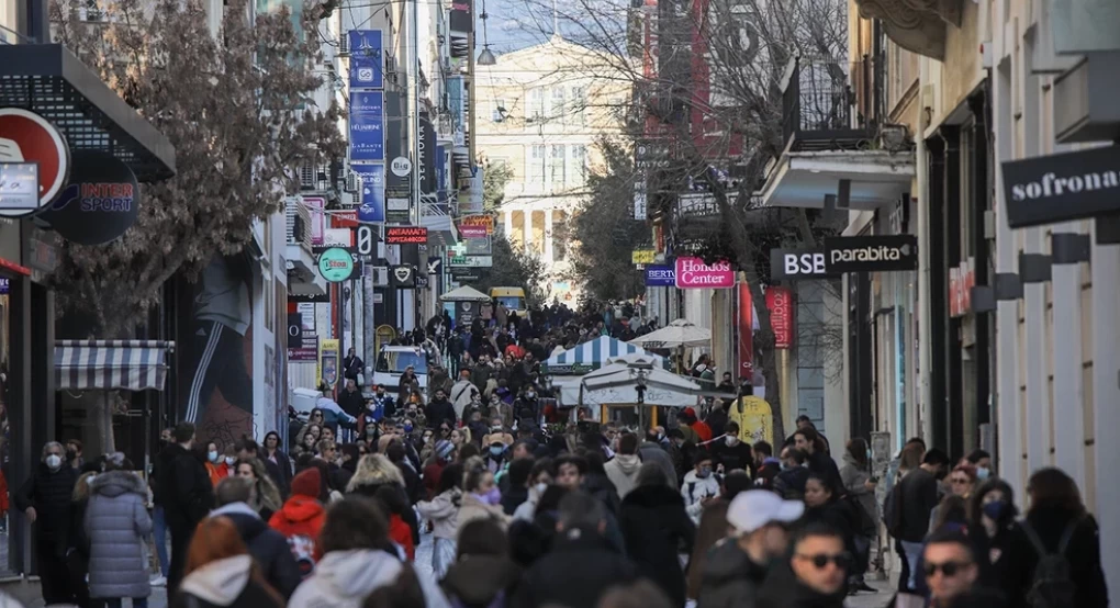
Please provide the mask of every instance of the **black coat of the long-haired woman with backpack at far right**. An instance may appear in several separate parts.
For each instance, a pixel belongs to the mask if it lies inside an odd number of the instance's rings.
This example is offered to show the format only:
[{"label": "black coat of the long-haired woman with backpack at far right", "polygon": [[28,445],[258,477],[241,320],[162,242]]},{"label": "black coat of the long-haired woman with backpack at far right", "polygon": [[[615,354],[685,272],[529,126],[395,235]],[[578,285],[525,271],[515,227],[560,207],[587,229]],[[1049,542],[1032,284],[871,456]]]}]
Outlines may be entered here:
[{"label": "black coat of the long-haired woman with backpack at far right", "polygon": [[[1027,513],[1026,523],[1047,551],[1056,552],[1066,526],[1077,517],[1082,518],[1075,524],[1064,553],[1070,562],[1070,578],[1076,587],[1073,605],[1077,608],[1103,608],[1109,605],[1109,590],[1101,569],[1101,537],[1096,520],[1091,515],[1081,516],[1060,507],[1035,507]],[[1030,543],[1023,525],[1023,522],[1014,524],[1009,539],[1010,549],[1001,558],[1010,560],[1007,563],[1010,577],[1004,587],[1008,606],[1026,605],[1025,596],[1034,583],[1035,569],[1038,567],[1038,551]]]}]

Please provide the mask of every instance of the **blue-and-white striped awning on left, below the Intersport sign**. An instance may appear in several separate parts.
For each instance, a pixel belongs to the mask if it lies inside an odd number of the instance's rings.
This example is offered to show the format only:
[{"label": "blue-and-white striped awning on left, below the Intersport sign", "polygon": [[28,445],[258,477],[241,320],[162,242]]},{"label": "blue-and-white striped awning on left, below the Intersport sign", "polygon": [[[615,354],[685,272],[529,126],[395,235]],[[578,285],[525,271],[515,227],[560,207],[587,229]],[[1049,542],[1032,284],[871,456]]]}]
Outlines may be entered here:
[{"label": "blue-and-white striped awning on left, below the Intersport sign", "polygon": [[55,389],[164,390],[174,342],[56,340]]}]

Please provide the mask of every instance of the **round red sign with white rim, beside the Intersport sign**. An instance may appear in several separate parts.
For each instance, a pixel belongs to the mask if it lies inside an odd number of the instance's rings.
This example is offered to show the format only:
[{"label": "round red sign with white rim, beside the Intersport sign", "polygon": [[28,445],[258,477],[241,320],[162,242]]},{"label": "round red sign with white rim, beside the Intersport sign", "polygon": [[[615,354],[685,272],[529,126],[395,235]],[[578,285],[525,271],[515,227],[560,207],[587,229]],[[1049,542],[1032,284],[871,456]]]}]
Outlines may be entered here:
[{"label": "round red sign with white rim, beside the Intersport sign", "polygon": [[40,206],[54,200],[69,178],[69,148],[62,132],[47,119],[21,107],[0,107],[0,161],[39,165]]}]

